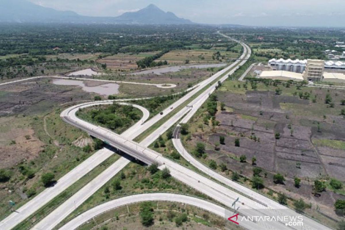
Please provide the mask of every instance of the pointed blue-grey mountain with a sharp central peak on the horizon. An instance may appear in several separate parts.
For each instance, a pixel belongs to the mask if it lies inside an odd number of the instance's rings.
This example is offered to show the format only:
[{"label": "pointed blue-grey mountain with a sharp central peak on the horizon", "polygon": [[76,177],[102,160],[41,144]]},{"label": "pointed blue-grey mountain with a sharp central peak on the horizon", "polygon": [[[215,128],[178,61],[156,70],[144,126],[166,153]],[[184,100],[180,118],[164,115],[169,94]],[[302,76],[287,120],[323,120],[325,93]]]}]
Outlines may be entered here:
[{"label": "pointed blue-grey mountain with a sharp central peak on the horizon", "polygon": [[193,24],[190,20],[178,18],[172,12],[164,12],[154,4],[137,12],[127,12],[116,18],[125,24]]}]

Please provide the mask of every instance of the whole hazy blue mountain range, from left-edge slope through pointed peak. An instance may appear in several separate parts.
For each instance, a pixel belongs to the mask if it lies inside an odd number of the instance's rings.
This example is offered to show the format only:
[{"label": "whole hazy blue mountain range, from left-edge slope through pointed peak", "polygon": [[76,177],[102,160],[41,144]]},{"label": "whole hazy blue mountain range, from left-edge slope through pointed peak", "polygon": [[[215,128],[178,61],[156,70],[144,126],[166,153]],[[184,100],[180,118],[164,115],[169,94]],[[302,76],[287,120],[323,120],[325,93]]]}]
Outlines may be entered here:
[{"label": "whole hazy blue mountain range, from left-edge slope through pointed peak", "polygon": [[42,7],[28,0],[0,0],[0,22],[194,24],[187,19],[178,18],[172,12],[164,12],[153,4],[118,17],[89,17],[73,11]]}]

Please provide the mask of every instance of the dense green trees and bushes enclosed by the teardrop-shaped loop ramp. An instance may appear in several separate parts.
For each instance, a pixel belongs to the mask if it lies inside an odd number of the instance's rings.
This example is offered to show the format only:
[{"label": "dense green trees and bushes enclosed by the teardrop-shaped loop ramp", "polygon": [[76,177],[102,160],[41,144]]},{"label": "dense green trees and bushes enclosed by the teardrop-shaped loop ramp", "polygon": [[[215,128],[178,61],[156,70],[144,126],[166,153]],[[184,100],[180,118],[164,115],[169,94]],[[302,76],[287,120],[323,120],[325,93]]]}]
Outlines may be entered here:
[{"label": "dense green trees and bushes enclosed by the teardrop-shaped loop ramp", "polygon": [[85,121],[114,130],[116,133],[122,133],[140,119],[142,112],[132,106],[114,102],[110,106],[80,109],[77,116]]}]

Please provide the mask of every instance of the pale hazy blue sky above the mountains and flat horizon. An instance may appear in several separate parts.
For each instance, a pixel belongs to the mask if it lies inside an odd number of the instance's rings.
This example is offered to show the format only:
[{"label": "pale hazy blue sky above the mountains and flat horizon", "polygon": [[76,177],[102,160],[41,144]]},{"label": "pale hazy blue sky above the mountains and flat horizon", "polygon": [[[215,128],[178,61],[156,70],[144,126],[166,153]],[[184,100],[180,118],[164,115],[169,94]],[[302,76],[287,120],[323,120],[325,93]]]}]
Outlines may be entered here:
[{"label": "pale hazy blue sky above the mountains and flat horizon", "polygon": [[30,0],[87,16],[118,16],[153,3],[199,23],[252,26],[345,26],[344,0]]}]

